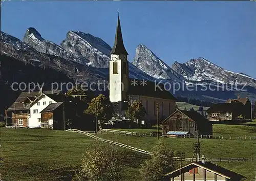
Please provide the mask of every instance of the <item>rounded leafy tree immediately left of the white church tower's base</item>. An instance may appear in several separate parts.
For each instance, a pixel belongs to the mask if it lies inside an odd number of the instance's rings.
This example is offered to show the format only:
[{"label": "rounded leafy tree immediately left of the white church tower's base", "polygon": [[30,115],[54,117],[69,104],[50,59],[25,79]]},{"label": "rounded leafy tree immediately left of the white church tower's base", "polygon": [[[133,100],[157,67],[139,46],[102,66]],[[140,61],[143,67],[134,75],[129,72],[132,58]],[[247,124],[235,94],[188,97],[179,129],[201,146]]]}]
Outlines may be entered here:
[{"label": "rounded leafy tree immediately left of the white church tower's base", "polygon": [[111,120],[114,115],[114,109],[110,100],[100,94],[98,97],[92,99],[86,113],[95,115],[100,121],[100,125],[102,125]]}]

